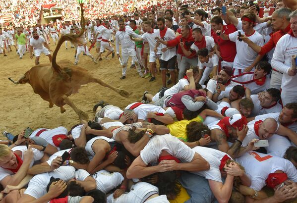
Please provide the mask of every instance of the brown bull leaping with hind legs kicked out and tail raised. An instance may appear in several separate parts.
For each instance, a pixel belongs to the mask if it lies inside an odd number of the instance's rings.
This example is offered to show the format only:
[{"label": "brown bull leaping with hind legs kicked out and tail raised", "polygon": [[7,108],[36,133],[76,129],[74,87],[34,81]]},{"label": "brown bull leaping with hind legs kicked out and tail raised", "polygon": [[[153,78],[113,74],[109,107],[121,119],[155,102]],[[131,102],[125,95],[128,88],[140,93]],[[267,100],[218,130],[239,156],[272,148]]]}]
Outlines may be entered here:
[{"label": "brown bull leaping with hind legs kicked out and tail raised", "polygon": [[[82,9],[81,9],[82,10]],[[59,61],[59,65],[56,63],[57,53],[60,46],[64,41],[71,41],[72,43],[79,43],[79,37],[84,32],[84,20],[83,10],[81,12],[82,17],[82,30],[77,35],[64,35],[60,38],[56,50],[53,53],[52,64],[44,64],[33,66],[23,75],[17,82],[8,78],[14,84],[29,83],[34,93],[40,95],[40,97],[50,102],[50,108],[55,105],[60,107],[61,113],[65,112],[63,105],[68,104],[73,108],[75,113],[80,119],[87,120],[88,115],[82,110],[78,109],[73,102],[68,98],[72,93],[78,92],[81,85],[85,85],[91,82],[98,83],[104,87],[108,87],[123,97],[128,97],[129,93],[112,87],[98,78],[94,78],[90,75],[86,69],[74,65],[69,60]]]}]

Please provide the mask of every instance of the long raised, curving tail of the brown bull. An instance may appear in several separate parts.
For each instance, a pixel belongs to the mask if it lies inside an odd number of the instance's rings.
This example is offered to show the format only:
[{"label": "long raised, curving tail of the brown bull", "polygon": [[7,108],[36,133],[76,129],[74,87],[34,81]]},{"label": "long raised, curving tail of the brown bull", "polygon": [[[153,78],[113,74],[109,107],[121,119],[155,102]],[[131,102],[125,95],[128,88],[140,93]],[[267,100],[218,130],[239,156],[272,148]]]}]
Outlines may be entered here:
[{"label": "long raised, curving tail of the brown bull", "polygon": [[57,44],[57,47],[53,53],[53,59],[52,59],[52,66],[54,68],[54,70],[57,73],[61,73],[61,67],[57,64],[56,62],[56,58],[57,58],[57,54],[58,51],[61,47],[61,45],[63,44],[63,42],[65,41],[70,41],[72,44],[78,44],[80,43],[80,37],[83,35],[83,33],[85,32],[85,19],[83,17],[83,3],[80,3],[80,10],[81,10],[81,20],[80,20],[80,24],[81,24],[81,31],[78,34],[66,34],[66,35],[62,35],[61,38],[59,39],[59,42]]}]

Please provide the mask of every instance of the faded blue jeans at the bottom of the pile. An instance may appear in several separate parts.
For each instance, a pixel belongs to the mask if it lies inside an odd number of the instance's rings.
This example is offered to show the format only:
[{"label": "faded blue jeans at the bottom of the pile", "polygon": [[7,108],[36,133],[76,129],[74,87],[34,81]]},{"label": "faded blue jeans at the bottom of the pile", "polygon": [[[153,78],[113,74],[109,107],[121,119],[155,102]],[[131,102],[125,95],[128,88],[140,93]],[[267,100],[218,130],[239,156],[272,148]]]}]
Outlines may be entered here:
[{"label": "faded blue jeans at the bottom of the pile", "polygon": [[179,183],[184,187],[191,197],[185,203],[215,203],[217,200],[212,194],[208,180],[202,176],[189,173],[186,171],[181,172],[178,179]]}]

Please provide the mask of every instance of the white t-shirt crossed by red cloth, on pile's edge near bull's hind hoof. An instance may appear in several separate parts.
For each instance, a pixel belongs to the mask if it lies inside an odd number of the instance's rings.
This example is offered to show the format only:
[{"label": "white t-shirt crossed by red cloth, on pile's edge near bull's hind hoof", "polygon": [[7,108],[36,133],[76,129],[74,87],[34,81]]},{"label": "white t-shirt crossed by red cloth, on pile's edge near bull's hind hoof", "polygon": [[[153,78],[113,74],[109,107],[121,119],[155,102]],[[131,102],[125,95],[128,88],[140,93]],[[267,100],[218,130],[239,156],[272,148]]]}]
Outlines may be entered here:
[{"label": "white t-shirt crossed by red cloth, on pile's edge near bull's hind hoof", "polygon": [[[134,102],[134,103],[136,103],[136,102]],[[125,107],[125,109],[129,109],[134,103],[127,105],[127,107]],[[145,104],[145,103],[139,105],[138,107],[134,108],[133,110],[136,113],[136,115],[138,115],[138,119],[142,119],[142,120],[147,119],[146,116],[149,112],[157,111],[158,113],[163,113],[163,114],[166,113],[166,111],[160,106],[156,106],[153,104]]]}]

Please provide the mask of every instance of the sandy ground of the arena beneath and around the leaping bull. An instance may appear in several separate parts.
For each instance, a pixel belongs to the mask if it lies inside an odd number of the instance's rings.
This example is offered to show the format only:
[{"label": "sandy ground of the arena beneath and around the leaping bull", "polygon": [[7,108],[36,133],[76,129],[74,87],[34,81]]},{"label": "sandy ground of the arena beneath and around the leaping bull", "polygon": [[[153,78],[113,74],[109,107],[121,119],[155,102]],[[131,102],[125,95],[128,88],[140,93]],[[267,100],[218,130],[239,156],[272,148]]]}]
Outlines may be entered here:
[{"label": "sandy ground of the arena beneath and around the leaping bull", "polygon": [[[90,46],[90,44],[88,44]],[[50,44],[52,50],[55,50],[55,45]],[[57,61],[61,59],[69,59],[74,63],[74,49],[65,50],[63,44],[59,50]],[[0,54],[0,131],[4,130],[17,134],[21,130],[31,127],[36,129],[39,127],[55,128],[64,126],[70,129],[71,126],[79,122],[78,116],[70,108],[65,105],[66,112],[60,113],[59,107],[49,108],[49,102],[44,101],[39,95],[33,92],[29,84],[15,85],[7,78],[11,77],[18,80],[27,70],[34,66],[34,58],[30,59],[29,53],[19,59],[15,53],[15,49],[7,53],[7,57]],[[96,50],[91,50],[93,56],[96,55]],[[105,55],[105,53],[103,53]],[[110,55],[111,57],[111,55]],[[128,67],[131,60],[129,59]],[[48,57],[42,55],[40,63],[49,63]],[[100,86],[99,84],[90,83],[81,87],[79,93],[71,95],[69,98],[81,110],[88,113],[89,118],[94,117],[93,106],[100,100],[108,101],[110,104],[124,108],[127,104],[135,101],[140,101],[145,90],[155,94],[161,87],[161,73],[157,73],[156,81],[148,82],[149,79],[140,78],[136,69],[128,68],[126,79],[120,80],[121,68],[117,57],[112,60],[99,61],[99,64],[94,62],[86,55],[80,54],[79,66],[86,68],[95,77],[102,79],[110,85],[125,89],[131,95],[128,99],[121,97],[116,92]],[[0,139],[2,134],[0,134]]]}]

